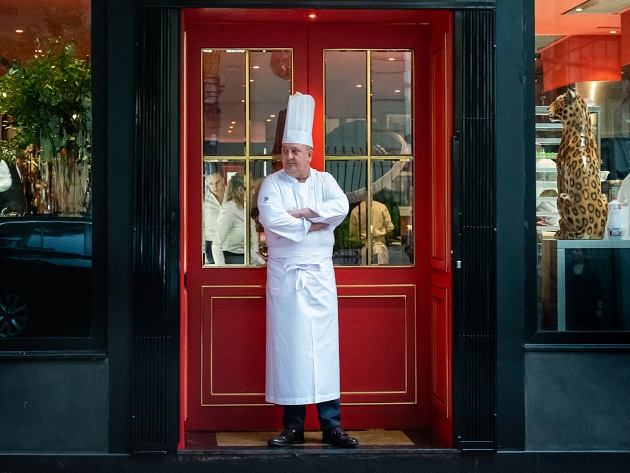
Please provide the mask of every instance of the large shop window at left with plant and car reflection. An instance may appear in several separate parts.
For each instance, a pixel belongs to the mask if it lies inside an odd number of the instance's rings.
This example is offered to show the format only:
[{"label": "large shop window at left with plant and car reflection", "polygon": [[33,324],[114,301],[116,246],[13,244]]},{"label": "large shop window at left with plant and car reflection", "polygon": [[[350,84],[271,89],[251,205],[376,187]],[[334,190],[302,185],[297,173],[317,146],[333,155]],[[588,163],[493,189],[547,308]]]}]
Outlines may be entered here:
[{"label": "large shop window at left with plant and car reflection", "polygon": [[89,337],[91,1],[0,10],[0,340]]}]

